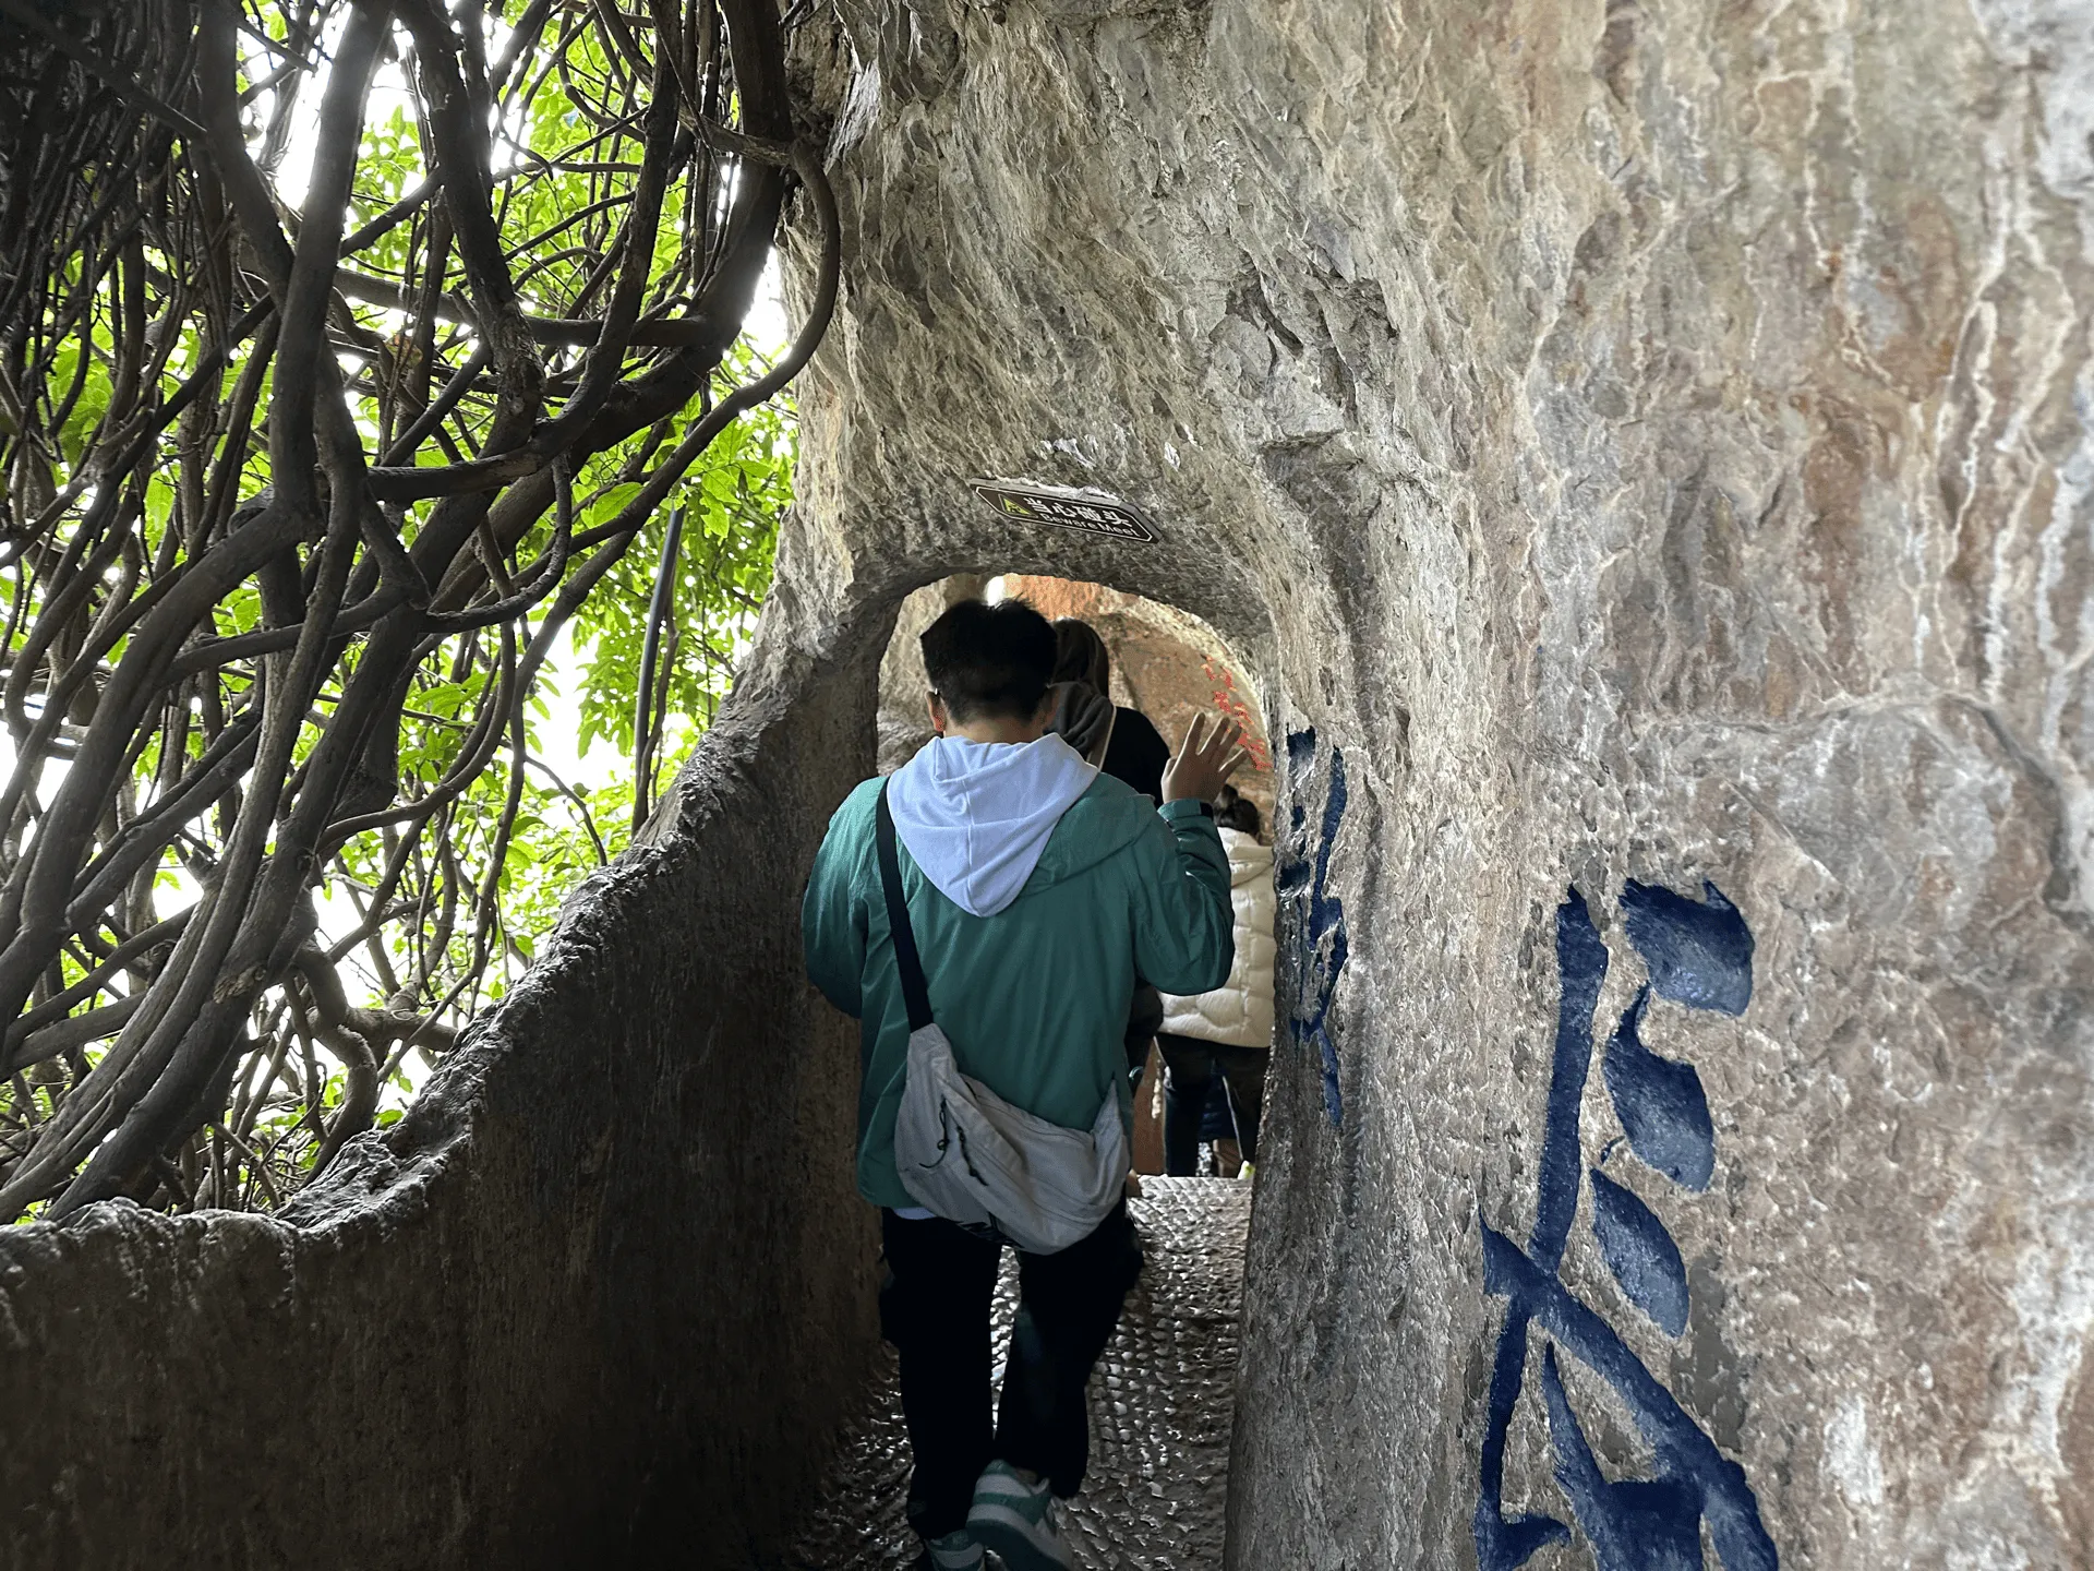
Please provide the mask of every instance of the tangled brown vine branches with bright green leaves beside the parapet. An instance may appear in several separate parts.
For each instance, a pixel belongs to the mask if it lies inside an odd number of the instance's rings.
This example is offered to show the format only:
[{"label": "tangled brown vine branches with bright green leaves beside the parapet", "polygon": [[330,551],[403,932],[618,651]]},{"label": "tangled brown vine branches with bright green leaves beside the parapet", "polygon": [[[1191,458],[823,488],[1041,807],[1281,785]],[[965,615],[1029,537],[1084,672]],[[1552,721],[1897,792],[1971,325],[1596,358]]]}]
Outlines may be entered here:
[{"label": "tangled brown vine branches with bright green leaves beside the parapet", "polygon": [[274,1204],[521,951],[538,672],[833,201],[773,0],[0,0],[0,1219]]}]

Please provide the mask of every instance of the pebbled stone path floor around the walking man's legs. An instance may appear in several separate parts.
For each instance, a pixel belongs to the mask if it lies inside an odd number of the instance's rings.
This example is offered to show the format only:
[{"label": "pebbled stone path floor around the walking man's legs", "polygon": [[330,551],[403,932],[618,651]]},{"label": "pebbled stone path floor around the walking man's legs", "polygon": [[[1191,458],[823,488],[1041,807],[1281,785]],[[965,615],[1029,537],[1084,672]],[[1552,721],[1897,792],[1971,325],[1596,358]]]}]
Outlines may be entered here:
[{"label": "pebbled stone path floor around the walking man's legs", "polygon": [[[1141,1183],[1143,1198],[1129,1209],[1148,1263],[1091,1376],[1091,1475],[1062,1521],[1083,1567],[1219,1571],[1250,1186],[1164,1177]],[[1009,1336],[1016,1288],[1005,1253],[999,1349]],[[917,1554],[903,1519],[907,1489],[909,1443],[894,1355],[884,1351],[867,1410],[842,1435],[794,1567],[907,1567]]]}]

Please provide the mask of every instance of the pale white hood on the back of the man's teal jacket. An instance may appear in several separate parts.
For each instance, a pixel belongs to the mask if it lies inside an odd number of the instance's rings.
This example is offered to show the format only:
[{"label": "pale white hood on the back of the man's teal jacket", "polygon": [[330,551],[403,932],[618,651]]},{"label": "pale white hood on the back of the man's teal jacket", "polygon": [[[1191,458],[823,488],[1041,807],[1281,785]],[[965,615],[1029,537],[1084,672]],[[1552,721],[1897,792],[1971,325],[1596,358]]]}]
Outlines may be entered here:
[{"label": "pale white hood on the back of the man's teal jacket", "polygon": [[995,915],[1024,890],[1047,836],[1097,767],[1062,737],[932,737],[888,777],[894,834],[923,878],[970,915]]}]

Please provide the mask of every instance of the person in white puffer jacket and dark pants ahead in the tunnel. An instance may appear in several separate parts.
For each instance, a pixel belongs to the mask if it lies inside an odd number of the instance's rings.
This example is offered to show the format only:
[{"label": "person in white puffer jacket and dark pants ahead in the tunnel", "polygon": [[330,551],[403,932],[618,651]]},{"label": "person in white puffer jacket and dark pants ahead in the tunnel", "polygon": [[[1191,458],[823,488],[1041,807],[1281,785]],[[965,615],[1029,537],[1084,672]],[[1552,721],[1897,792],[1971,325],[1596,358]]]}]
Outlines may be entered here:
[{"label": "person in white puffer jacket and dark pants ahead in the tunnel", "polygon": [[1223,788],[1215,825],[1229,853],[1235,964],[1212,993],[1164,993],[1156,1049],[1164,1060],[1164,1173],[1189,1177],[1200,1163],[1200,1121],[1217,1070],[1246,1163],[1258,1158],[1258,1110],[1273,1049],[1273,848],[1258,844],[1258,809]]}]

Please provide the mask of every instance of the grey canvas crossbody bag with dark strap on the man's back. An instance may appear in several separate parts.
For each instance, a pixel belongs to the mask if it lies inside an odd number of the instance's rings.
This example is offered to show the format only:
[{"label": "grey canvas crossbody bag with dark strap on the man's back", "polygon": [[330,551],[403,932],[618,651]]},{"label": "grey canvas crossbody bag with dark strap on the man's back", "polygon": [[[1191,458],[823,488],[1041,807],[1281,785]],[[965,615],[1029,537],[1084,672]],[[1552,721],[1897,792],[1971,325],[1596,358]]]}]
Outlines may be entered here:
[{"label": "grey canvas crossbody bag with dark strap on the man's back", "polygon": [[953,1043],[930,1018],[886,785],[877,825],[879,886],[909,1005],[909,1072],[894,1116],[903,1188],[932,1215],[993,1230],[1030,1255],[1068,1248],[1120,1202],[1127,1183],[1120,1100],[1108,1089],[1089,1129],[1064,1129],[959,1072]]}]

